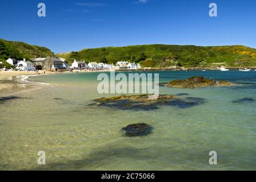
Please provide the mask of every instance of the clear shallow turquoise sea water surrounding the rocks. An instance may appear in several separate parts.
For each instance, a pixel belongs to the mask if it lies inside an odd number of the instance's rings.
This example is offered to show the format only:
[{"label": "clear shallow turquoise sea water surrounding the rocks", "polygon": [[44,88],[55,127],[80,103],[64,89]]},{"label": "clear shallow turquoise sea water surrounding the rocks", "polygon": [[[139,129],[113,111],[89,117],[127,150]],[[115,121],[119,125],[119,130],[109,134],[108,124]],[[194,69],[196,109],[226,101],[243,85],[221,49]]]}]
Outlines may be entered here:
[{"label": "clear shallow turquoise sea water surrounding the rocks", "polygon": [[[118,73],[118,72],[117,72]],[[125,72],[133,73],[133,72]],[[206,102],[189,108],[120,110],[91,106],[99,73],[30,77],[46,82],[0,103],[0,169],[77,170],[255,170],[256,72],[161,71],[159,82],[204,76],[239,84],[233,87],[175,89]],[[109,74],[109,73],[108,73]],[[56,99],[58,98],[58,100]],[[254,102],[233,102],[253,98]],[[132,123],[148,123],[154,133],[125,137]],[[46,152],[46,165],[37,152]],[[216,151],[218,164],[209,164]]]}]

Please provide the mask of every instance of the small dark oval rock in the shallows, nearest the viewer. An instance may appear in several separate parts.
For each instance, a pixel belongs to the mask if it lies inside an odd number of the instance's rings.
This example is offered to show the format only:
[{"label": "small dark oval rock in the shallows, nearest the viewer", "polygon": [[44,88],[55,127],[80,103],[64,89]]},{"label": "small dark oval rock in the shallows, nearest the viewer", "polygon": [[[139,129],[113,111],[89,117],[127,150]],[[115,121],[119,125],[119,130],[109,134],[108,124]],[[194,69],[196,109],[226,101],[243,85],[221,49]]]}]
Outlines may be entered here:
[{"label": "small dark oval rock in the shallows, nearest the viewer", "polygon": [[137,123],[123,127],[122,130],[125,131],[127,137],[142,137],[150,135],[153,127],[146,123]]}]

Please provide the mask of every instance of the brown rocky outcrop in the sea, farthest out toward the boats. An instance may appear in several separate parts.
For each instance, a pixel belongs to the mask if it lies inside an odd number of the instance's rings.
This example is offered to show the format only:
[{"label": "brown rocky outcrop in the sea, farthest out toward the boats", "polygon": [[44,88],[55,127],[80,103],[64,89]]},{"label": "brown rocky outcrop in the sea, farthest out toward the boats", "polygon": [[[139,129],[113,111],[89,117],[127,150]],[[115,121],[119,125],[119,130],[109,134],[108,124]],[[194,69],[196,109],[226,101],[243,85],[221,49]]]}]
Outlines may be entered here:
[{"label": "brown rocky outcrop in the sea, farthest out toward the boats", "polygon": [[213,79],[207,79],[202,76],[195,76],[188,78],[187,80],[174,80],[167,83],[165,86],[174,88],[202,88],[207,86],[234,86],[235,84],[227,81],[215,81]]}]

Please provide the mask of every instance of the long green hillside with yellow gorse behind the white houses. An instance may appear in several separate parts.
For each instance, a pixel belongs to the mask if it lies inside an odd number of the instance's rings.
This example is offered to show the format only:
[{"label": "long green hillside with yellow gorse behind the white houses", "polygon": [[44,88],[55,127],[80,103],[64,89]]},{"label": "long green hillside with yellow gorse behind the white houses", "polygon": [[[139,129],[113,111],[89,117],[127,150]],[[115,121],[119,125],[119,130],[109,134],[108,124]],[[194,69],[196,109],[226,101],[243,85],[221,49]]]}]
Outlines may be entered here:
[{"label": "long green hillside with yellow gorse behind the white houses", "polygon": [[256,66],[256,49],[246,46],[175,46],[142,45],[83,49],[79,52],[59,53],[70,63],[72,60],[116,63],[127,60],[141,63],[144,67],[229,67]]}]

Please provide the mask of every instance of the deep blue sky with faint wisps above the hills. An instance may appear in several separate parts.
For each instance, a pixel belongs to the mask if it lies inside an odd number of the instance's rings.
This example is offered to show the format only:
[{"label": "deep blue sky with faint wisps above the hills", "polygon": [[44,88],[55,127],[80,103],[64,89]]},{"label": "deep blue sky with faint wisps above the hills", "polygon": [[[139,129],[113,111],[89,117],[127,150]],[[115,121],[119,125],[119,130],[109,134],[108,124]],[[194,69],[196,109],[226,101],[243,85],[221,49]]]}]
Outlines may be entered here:
[{"label": "deep blue sky with faint wisps above the hills", "polygon": [[[46,4],[46,17],[37,5]],[[209,4],[218,5],[210,17]],[[256,48],[255,0],[1,0],[0,38],[55,53],[138,44]]]}]

